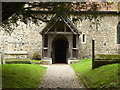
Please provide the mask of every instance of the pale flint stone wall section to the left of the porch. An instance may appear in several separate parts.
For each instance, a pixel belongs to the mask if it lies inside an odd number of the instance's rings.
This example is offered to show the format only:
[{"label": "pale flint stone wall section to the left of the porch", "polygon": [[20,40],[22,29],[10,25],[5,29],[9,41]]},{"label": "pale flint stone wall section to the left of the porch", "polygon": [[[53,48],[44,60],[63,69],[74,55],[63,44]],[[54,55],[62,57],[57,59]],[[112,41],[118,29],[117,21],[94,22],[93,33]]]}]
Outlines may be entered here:
[{"label": "pale flint stone wall section to the left of the porch", "polygon": [[27,51],[28,57],[33,53],[42,53],[42,36],[40,31],[46,26],[45,23],[39,22],[39,26],[29,22],[27,25],[18,22],[19,26],[15,28],[11,35],[0,28],[0,51]]}]

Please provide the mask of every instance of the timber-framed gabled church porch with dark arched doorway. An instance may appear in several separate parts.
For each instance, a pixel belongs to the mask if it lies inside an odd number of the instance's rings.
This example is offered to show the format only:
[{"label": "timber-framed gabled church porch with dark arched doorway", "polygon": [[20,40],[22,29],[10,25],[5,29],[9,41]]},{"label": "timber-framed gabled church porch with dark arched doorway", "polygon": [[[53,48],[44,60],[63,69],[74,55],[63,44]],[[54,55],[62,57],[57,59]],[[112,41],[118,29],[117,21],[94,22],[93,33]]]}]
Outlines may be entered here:
[{"label": "timber-framed gabled church porch with dark arched doorway", "polygon": [[76,62],[81,32],[66,14],[56,14],[40,33],[42,35],[42,60],[48,64]]}]

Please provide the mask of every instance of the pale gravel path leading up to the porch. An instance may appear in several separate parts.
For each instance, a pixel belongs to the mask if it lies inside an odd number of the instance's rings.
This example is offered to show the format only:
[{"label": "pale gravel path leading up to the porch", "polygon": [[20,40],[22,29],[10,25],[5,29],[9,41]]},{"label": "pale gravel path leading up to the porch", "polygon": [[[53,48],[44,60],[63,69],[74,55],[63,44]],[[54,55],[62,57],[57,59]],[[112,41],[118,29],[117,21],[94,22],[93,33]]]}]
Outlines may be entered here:
[{"label": "pale gravel path leading up to the porch", "polygon": [[48,67],[39,88],[84,88],[77,75],[67,64],[45,65]]}]

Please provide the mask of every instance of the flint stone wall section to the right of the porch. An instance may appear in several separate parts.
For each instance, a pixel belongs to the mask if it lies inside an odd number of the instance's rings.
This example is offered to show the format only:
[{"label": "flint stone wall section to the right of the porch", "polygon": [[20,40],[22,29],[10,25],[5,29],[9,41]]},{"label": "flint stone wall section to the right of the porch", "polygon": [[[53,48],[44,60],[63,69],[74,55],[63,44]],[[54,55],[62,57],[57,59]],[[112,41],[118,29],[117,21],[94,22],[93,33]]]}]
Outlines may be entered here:
[{"label": "flint stone wall section to the right of the porch", "polygon": [[118,54],[120,46],[116,44],[118,15],[96,14],[96,16],[82,14],[75,22],[78,30],[86,36],[85,43],[82,43],[82,35],[79,37],[79,57],[91,56],[92,39],[95,40],[95,54]]}]

